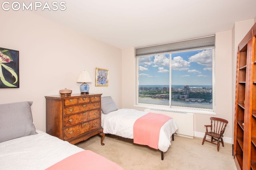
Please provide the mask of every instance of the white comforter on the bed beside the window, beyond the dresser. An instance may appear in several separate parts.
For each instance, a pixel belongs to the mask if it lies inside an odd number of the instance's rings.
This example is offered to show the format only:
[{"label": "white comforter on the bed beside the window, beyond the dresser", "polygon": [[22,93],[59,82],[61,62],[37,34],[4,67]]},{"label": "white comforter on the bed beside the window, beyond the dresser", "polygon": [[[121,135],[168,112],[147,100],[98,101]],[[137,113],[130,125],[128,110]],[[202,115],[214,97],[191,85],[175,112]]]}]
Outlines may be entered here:
[{"label": "white comforter on the bed beside the window, beyond the dresser", "polygon": [[[102,113],[103,133],[133,139],[133,125],[136,119],[145,115],[146,111],[136,109],[118,109],[108,114]],[[158,149],[166,152],[171,145],[171,136],[178,130],[174,119],[168,120],[160,129]]]}]

